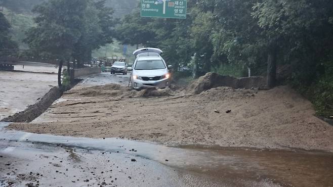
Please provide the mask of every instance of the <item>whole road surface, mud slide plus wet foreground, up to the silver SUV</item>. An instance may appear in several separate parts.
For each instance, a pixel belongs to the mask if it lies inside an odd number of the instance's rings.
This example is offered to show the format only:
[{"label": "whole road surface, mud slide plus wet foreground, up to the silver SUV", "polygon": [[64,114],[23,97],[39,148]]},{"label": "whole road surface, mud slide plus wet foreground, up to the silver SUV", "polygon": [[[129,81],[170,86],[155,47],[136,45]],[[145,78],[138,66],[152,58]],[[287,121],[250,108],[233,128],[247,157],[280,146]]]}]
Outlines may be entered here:
[{"label": "whole road surface, mud slide plus wet foreground, up to the silver SUV", "polygon": [[288,87],[153,97],[128,80],[84,77],[33,122],[1,123],[0,186],[333,186],[333,128]]}]

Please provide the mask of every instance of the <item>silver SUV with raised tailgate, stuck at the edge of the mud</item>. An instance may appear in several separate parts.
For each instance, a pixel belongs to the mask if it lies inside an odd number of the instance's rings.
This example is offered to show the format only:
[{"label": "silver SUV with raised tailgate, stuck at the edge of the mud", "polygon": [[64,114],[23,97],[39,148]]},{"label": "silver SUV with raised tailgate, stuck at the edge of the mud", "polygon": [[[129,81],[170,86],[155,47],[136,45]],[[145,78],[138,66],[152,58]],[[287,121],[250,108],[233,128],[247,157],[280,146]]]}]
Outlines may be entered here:
[{"label": "silver SUV with raised tailgate, stuck at the edge of the mud", "polygon": [[143,48],[133,53],[136,56],[131,73],[133,88],[164,88],[170,85],[168,67],[171,66],[166,66],[161,53],[162,51],[156,48]]}]

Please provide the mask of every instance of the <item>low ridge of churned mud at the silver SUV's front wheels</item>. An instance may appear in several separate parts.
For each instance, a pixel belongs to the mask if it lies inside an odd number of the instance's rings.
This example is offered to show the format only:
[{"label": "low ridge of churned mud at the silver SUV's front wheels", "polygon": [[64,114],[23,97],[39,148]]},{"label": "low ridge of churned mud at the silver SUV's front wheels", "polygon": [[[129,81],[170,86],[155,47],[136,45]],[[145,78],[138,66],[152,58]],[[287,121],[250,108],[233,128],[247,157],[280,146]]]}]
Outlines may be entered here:
[{"label": "low ridge of churned mud at the silver SUV's front wheels", "polygon": [[134,90],[131,87],[123,87],[119,84],[107,84],[102,86],[92,86],[71,89],[64,93],[67,97],[161,97],[171,95],[170,88],[148,88]]}]

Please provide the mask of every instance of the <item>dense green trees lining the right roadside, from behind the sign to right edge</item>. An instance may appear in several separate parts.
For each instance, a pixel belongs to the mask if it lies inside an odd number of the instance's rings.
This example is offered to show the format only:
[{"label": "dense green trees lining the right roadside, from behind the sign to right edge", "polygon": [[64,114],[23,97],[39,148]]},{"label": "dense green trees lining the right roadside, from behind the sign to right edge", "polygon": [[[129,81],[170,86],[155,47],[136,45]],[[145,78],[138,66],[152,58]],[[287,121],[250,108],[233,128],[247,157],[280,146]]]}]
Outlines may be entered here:
[{"label": "dense green trees lining the right roadside, from behind the sign to right edge", "polygon": [[[198,76],[212,70],[267,76],[276,71],[308,96],[318,114],[333,115],[333,2],[331,0],[188,1],[186,20],[126,16],[123,43],[161,48],[176,69]],[[287,79],[286,79],[287,78]]]}]

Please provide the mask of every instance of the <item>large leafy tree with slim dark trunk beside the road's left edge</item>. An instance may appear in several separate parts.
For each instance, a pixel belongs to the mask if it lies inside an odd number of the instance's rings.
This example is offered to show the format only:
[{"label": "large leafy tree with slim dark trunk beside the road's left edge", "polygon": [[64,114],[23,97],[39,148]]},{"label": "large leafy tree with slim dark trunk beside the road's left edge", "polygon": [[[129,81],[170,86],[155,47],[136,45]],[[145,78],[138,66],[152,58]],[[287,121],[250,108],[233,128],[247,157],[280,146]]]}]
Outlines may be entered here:
[{"label": "large leafy tree with slim dark trunk beside the road's left edge", "polygon": [[59,60],[59,87],[65,61],[78,60],[81,66],[91,60],[92,50],[112,41],[112,11],[104,1],[50,0],[33,13],[37,26],[27,32],[25,42],[42,56]]}]

